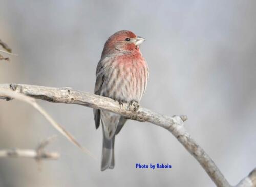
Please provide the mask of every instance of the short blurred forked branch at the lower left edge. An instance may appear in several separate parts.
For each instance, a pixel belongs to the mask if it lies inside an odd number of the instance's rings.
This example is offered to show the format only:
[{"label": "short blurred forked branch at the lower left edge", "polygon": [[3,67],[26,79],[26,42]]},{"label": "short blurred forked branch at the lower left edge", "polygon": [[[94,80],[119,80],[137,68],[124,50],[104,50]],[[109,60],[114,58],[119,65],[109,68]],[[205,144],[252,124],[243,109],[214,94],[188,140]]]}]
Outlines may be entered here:
[{"label": "short blurred forked branch at the lower left edge", "polygon": [[[34,149],[9,149],[0,150],[0,158],[33,158],[36,161],[42,159],[58,159],[59,154],[56,152],[45,152],[44,148],[52,141],[52,138],[42,141],[36,150]],[[47,142],[47,143],[46,143]]]}]

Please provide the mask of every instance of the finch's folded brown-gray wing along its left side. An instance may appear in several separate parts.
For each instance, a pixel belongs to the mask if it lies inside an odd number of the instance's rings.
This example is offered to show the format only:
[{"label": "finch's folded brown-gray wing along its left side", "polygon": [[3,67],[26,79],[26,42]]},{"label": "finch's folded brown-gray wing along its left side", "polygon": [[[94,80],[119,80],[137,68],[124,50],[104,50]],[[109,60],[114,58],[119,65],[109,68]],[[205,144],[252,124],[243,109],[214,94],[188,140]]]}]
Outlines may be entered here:
[{"label": "finch's folded brown-gray wing along its left side", "polygon": [[[101,87],[105,80],[105,76],[103,74],[102,68],[103,68],[103,66],[101,66],[101,63],[99,62],[98,66],[97,66],[97,70],[96,70],[96,83],[95,83],[95,88],[94,88],[94,93],[97,95],[100,95]],[[94,113],[95,126],[97,129],[100,124],[100,110],[93,109],[93,113]]]}]

